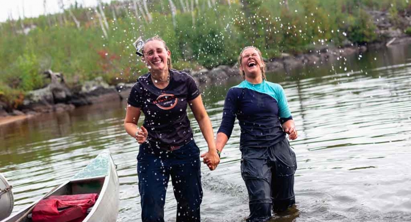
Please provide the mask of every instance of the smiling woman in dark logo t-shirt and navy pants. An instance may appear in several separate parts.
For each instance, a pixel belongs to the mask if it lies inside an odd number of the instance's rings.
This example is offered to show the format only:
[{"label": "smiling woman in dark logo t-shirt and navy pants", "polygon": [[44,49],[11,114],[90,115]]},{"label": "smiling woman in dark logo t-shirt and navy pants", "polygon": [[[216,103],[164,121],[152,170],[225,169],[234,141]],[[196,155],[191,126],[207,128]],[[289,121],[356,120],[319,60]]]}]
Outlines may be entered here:
[{"label": "smiling woman in dark logo t-shirt and navy pants", "polygon": [[[194,79],[171,69],[171,52],[159,37],[146,40],[142,50],[149,73],[132,87],[124,127],[140,144],[137,173],[142,221],[164,222],[164,203],[171,176],[177,200],[177,222],[200,222],[203,196],[200,151],[193,140],[187,104],[208,144],[202,157],[214,170],[220,162],[214,133]],[[141,112],[145,119],[137,126]]]}]

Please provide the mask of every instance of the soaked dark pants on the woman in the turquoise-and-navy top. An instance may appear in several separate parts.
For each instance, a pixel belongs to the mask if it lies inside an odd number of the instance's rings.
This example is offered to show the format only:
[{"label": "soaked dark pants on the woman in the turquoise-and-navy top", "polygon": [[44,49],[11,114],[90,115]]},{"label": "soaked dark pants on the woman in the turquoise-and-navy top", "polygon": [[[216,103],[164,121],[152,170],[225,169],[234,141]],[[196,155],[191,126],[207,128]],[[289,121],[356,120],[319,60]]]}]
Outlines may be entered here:
[{"label": "soaked dark pants on the woman in the turquoise-and-navy top", "polygon": [[241,176],[247,186],[250,216],[247,222],[265,222],[274,211],[295,204],[296,154],[287,139],[270,148],[241,148]]}]

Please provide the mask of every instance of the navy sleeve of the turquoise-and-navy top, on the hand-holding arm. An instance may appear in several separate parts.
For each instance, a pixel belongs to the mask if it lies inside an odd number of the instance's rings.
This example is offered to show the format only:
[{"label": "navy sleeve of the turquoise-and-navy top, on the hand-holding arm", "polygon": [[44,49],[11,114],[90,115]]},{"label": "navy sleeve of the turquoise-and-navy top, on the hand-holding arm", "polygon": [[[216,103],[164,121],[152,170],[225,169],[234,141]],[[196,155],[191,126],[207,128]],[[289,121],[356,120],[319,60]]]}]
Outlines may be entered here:
[{"label": "navy sleeve of the turquoise-and-navy top, on the hand-holding arm", "polygon": [[237,117],[237,111],[237,97],[233,88],[231,88],[228,90],[227,95],[225,96],[223,120],[221,121],[221,125],[217,133],[224,133],[227,138],[230,139],[232,129],[234,128],[234,121]]}]

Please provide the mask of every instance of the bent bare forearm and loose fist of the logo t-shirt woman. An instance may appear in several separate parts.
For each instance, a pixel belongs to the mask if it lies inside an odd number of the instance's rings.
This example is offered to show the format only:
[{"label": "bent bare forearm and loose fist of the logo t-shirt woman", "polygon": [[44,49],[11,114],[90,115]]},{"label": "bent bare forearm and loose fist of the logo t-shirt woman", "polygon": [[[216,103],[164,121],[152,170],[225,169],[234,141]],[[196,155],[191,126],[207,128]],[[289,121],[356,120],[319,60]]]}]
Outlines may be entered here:
[{"label": "bent bare forearm and loose fist of the logo t-shirt woman", "polygon": [[124,119],[124,129],[128,135],[136,138],[137,142],[142,144],[146,141],[148,133],[144,126],[141,126],[141,129],[137,126],[140,114],[141,108],[127,106],[126,117]]}]

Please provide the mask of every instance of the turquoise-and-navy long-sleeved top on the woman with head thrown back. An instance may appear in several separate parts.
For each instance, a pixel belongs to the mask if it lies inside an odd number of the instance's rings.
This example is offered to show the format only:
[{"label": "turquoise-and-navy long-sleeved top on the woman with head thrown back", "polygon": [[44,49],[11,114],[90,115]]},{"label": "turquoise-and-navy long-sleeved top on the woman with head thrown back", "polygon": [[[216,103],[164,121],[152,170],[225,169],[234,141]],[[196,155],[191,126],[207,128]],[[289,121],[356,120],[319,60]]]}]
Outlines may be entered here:
[{"label": "turquoise-and-navy long-sleeved top on the woman with head thrown back", "polygon": [[223,120],[218,133],[231,136],[235,118],[240,124],[240,148],[272,147],[285,138],[281,123],[293,119],[281,85],[247,80],[230,88],[224,101]]}]

